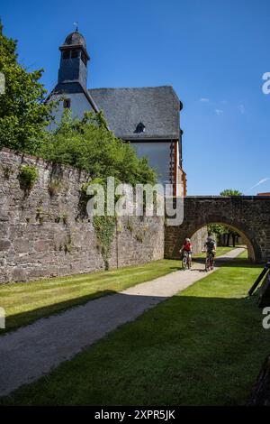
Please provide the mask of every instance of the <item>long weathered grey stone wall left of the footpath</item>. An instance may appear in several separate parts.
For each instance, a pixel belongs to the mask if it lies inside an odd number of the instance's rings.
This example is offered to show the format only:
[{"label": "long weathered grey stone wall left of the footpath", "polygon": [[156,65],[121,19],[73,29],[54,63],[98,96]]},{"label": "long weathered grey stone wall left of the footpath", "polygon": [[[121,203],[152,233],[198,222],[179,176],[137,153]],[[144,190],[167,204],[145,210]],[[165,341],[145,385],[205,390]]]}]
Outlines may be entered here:
[{"label": "long weathered grey stone wall left of the footpath", "polygon": [[[23,164],[39,171],[29,193],[20,187]],[[104,269],[92,222],[81,216],[80,189],[86,180],[83,171],[7,149],[0,152],[0,282]],[[112,268],[163,257],[163,217],[121,217],[112,243]]]}]

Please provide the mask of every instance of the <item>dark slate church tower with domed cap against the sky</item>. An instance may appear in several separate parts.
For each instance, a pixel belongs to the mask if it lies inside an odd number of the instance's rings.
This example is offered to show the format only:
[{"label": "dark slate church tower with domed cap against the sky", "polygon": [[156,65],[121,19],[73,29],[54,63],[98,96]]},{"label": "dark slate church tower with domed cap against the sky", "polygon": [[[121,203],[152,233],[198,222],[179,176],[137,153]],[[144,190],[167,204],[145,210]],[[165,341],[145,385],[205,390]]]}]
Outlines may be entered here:
[{"label": "dark slate church tower with domed cap against the sky", "polygon": [[78,82],[86,89],[87,61],[85,38],[77,31],[71,32],[59,47],[61,51],[58,84]]}]

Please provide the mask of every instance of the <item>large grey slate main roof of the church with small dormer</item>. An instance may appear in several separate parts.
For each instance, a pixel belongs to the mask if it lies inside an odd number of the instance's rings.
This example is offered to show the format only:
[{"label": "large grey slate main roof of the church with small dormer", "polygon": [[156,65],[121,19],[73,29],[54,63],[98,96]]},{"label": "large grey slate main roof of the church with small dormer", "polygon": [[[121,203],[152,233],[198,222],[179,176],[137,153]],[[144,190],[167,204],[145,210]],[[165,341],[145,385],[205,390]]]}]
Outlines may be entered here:
[{"label": "large grey slate main roof of the church with small dormer", "polygon": [[[146,88],[92,88],[88,90],[103,110],[117,137],[132,139],[178,139],[182,104],[170,86]],[[144,132],[136,133],[139,123]]]}]

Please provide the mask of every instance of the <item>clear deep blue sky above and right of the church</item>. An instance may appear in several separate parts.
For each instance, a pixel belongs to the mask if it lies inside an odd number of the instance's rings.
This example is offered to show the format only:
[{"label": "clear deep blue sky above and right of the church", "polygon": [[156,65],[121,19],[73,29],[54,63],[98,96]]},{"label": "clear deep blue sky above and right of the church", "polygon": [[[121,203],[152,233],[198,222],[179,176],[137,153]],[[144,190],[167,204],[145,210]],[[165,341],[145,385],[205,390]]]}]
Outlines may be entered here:
[{"label": "clear deep blue sky above and right of the church", "polygon": [[75,21],[91,56],[88,88],[172,85],[184,103],[189,195],[270,191],[269,0],[2,0],[0,15],[48,90]]}]

